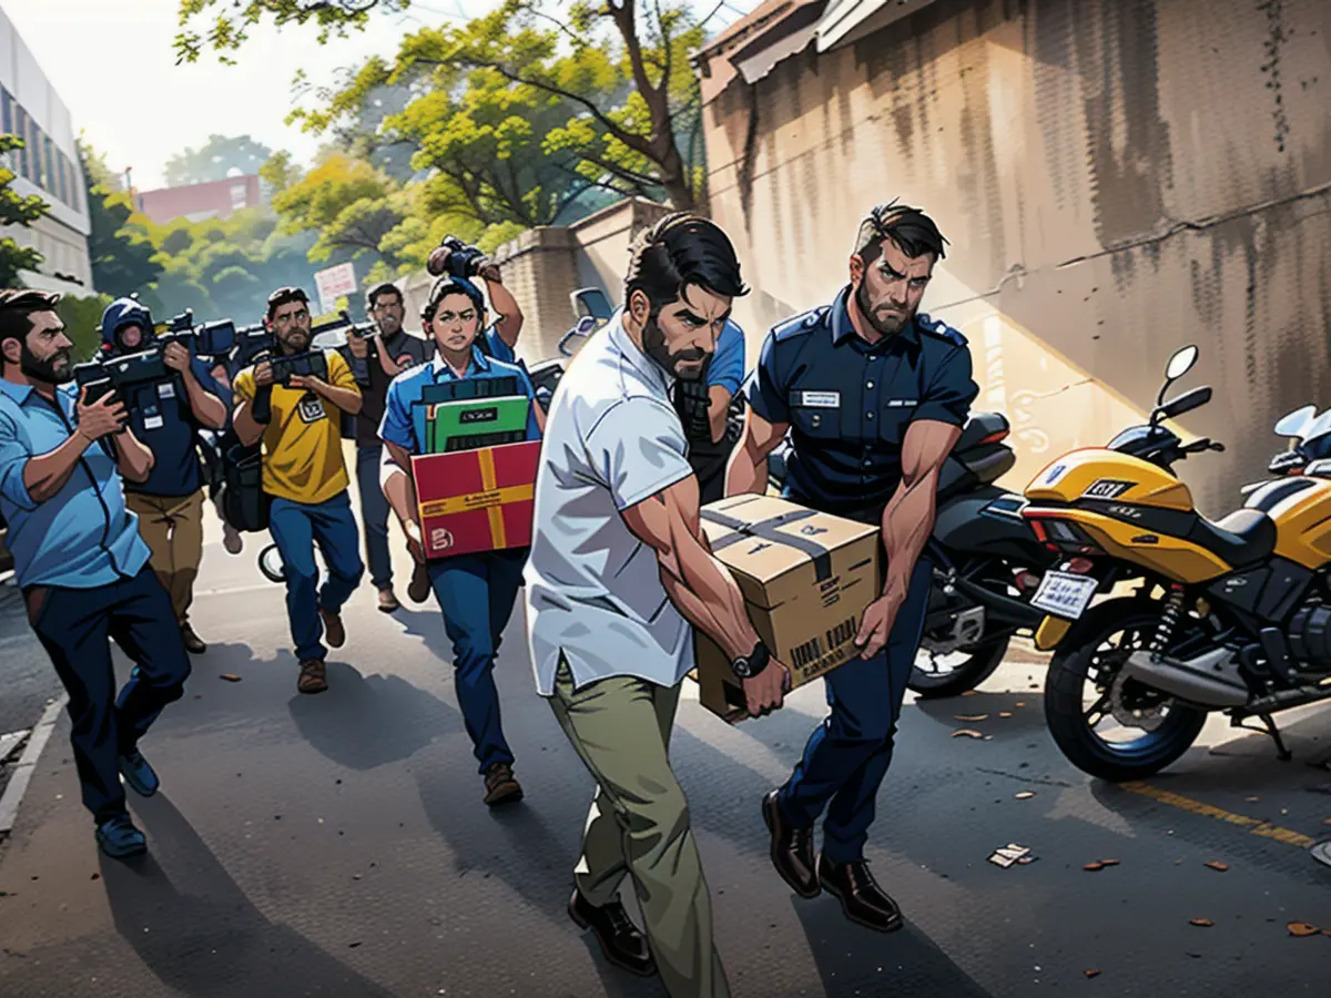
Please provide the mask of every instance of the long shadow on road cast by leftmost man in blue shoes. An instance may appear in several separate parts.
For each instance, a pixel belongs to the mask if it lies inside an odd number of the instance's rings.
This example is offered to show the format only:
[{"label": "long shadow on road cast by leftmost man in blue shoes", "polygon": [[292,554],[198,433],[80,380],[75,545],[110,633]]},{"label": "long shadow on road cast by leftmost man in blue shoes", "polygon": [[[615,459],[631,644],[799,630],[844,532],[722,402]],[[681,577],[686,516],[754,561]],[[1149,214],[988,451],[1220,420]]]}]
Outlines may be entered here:
[{"label": "long shadow on road cast by leftmost man in blue shoes", "polygon": [[168,987],[205,998],[394,998],[290,927],[270,922],[158,794],[136,804],[153,852],[101,858],[116,930]]}]

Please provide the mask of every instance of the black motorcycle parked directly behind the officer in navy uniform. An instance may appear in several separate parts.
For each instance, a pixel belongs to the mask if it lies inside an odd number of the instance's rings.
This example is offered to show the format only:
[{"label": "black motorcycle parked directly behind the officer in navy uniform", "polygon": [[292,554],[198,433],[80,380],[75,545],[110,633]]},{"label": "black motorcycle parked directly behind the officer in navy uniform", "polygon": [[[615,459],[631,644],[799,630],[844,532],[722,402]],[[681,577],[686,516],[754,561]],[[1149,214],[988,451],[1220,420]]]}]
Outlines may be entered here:
[{"label": "black motorcycle parked directly behind the officer in navy uniform", "polygon": [[[961,431],[938,479],[937,519],[925,556],[933,587],[920,653],[908,687],[921,699],[960,696],[1002,663],[1013,635],[1034,631],[1044,612],[1030,605],[1047,551],[1021,518],[1025,499],[994,484],[1017,455],[1004,443],[1000,413],[978,413]],[[785,479],[789,442],[768,459],[773,486]]]}]

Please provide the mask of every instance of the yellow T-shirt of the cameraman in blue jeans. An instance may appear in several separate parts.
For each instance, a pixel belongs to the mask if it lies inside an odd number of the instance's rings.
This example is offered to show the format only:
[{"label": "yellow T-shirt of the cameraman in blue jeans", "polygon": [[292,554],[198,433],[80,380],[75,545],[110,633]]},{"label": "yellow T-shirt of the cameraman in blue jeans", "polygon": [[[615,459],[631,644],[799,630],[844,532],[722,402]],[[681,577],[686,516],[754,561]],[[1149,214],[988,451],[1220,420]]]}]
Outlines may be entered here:
[{"label": "yellow T-shirt of the cameraman in blue jeans", "polygon": [[[359,391],[342,354],[325,350],[329,385]],[[254,401],[254,367],[236,375],[236,398]],[[342,410],[303,389],[273,386],[273,418],[264,427],[264,491],[318,506],[351,484],[342,458]]]}]

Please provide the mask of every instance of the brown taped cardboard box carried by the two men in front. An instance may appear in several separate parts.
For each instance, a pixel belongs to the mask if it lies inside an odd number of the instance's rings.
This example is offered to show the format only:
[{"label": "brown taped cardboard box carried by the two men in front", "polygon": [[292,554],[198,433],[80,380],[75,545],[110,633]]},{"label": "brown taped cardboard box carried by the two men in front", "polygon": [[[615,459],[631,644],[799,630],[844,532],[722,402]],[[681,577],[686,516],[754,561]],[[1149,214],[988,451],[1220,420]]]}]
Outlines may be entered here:
[{"label": "brown taped cardboard box carried by the two men in front", "polygon": [[[736,495],[703,507],[703,532],[739,583],[753,629],[789,667],[792,688],[857,653],[860,620],[881,588],[877,527]],[[729,656],[703,633],[696,653],[703,707],[732,723],[745,716]]]}]

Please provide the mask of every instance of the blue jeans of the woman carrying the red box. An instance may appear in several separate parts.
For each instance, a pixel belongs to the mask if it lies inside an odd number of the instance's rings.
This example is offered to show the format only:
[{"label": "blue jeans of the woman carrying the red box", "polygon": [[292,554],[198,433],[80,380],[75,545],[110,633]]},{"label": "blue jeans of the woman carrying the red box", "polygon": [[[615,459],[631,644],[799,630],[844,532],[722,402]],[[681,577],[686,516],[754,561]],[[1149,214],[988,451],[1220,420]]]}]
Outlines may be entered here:
[{"label": "blue jeans of the woman carrying the red box", "polygon": [[430,584],[453,641],[453,681],[462,720],[484,773],[495,762],[512,764],[499,724],[495,656],[512,616],[527,548],[457,555],[429,563]]}]

